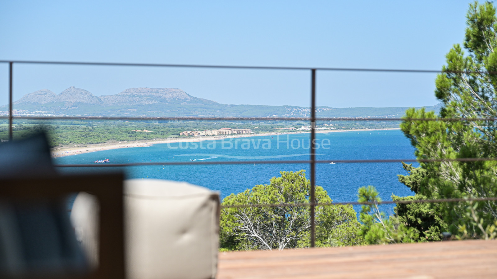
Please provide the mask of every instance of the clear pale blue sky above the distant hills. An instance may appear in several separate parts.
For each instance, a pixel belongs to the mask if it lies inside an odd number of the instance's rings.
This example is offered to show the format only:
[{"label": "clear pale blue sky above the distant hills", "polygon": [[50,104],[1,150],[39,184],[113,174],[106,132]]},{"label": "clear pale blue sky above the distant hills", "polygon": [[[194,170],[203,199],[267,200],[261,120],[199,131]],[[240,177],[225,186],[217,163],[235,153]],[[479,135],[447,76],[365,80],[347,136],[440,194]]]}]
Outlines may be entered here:
[{"label": "clear pale blue sky above the distant hills", "polygon": [[[0,1],[0,60],[439,70],[469,1]],[[318,72],[321,106],[434,105],[435,74]],[[14,65],[14,99],[173,87],[229,104],[308,106],[308,71]],[[7,102],[0,65],[0,103]]]}]

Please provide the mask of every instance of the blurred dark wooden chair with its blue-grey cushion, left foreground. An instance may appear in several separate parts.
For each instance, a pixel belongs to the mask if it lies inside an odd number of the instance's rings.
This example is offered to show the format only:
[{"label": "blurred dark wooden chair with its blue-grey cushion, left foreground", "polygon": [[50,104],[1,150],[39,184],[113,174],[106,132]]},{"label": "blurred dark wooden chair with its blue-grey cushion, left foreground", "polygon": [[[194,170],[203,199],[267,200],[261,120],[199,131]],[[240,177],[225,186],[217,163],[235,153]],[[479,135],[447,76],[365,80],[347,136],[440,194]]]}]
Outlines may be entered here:
[{"label": "blurred dark wooden chair with its blue-grey cushion, left foreground", "polygon": [[[101,202],[93,271],[67,208],[81,191]],[[58,174],[43,133],[0,143],[0,278],[125,278],[122,191],[122,174]]]}]

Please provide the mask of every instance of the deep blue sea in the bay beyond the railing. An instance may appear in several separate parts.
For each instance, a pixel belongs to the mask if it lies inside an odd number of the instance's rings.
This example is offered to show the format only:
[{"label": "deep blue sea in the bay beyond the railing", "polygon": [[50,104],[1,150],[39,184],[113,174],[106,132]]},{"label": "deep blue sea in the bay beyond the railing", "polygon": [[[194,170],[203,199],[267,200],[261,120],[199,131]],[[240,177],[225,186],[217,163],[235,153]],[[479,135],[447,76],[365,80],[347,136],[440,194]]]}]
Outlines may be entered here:
[{"label": "deep blue sea in the bay beyond the railing", "polygon": [[[309,134],[254,136],[239,139],[204,140],[202,142],[162,143],[148,147],[120,148],[84,153],[55,159],[57,164],[88,164],[100,159],[111,163],[307,160]],[[318,160],[345,159],[414,159],[411,146],[400,130],[317,133]],[[104,165],[104,164],[102,164]],[[177,165],[136,166],[123,168],[127,178],[158,178],[186,181],[221,193],[221,199],[257,184],[268,184],[279,172],[309,170],[309,164]],[[61,168],[62,169],[62,168]],[[95,172],[95,168],[63,168],[64,172]],[[104,168],[109,169],[109,168]],[[316,184],[322,186],[335,202],[357,201],[357,189],[373,185],[383,200],[392,194],[413,195],[398,179],[407,174],[401,163],[335,163],[316,165]],[[309,178],[309,177],[308,177]],[[360,207],[355,206],[356,211]],[[387,214],[393,205],[384,205]]]}]

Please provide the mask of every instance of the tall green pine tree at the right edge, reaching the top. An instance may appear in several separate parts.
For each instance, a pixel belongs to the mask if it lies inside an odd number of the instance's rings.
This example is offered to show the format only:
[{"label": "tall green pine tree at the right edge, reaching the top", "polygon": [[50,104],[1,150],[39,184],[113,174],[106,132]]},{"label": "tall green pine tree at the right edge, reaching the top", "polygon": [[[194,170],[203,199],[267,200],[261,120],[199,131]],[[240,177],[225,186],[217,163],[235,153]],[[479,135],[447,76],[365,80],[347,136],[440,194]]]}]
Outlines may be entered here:
[{"label": "tall green pine tree at the right edge, reaching the top", "polygon": [[[446,55],[447,65],[435,80],[435,96],[443,105],[439,116],[424,109],[408,109],[401,130],[416,148],[418,159],[476,161],[421,162],[417,168],[403,163],[409,175],[399,175],[399,181],[415,195],[392,196],[394,201],[497,196],[497,162],[481,160],[497,157],[497,126],[492,119],[497,117],[496,9],[490,2],[474,2],[466,22],[463,46],[467,54],[459,44],[454,45]],[[415,118],[439,121],[412,120]],[[454,118],[466,120],[447,120]],[[440,240],[443,231],[460,239],[491,239],[496,235],[494,201],[397,204],[395,212],[395,220],[418,234],[416,241]],[[375,239],[381,236],[377,233]]]}]

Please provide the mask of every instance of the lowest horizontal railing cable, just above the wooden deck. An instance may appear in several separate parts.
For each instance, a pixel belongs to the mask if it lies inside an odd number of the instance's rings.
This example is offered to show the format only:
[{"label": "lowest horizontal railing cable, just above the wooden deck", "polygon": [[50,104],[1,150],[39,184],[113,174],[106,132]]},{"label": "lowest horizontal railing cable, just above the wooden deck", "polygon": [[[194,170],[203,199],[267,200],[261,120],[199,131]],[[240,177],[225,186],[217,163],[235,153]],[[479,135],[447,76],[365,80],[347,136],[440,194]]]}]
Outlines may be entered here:
[{"label": "lowest horizontal railing cable, just above the wooden deck", "polygon": [[290,204],[252,204],[252,205],[221,205],[222,208],[276,208],[276,207],[309,207],[319,206],[340,206],[340,205],[391,205],[391,204],[420,204],[420,203],[460,203],[460,202],[488,202],[497,201],[497,197],[492,198],[454,198],[454,199],[429,199],[429,200],[406,200],[406,201],[381,201],[372,202],[337,202],[337,203],[290,203]]}]

